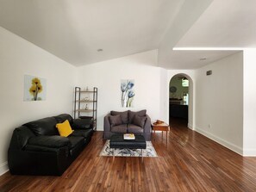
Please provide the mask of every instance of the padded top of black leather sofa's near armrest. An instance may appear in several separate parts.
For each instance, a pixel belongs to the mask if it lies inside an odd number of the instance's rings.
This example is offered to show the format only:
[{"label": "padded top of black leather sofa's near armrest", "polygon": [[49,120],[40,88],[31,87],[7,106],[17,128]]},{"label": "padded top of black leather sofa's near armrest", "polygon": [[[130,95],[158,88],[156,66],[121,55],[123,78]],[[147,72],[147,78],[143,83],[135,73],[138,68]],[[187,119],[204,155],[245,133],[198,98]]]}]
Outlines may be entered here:
[{"label": "padded top of black leather sofa's near armrest", "polygon": [[70,146],[70,140],[66,137],[58,135],[53,136],[37,136],[28,139],[28,145],[31,146],[42,146],[49,148],[59,148],[64,146]]}]

